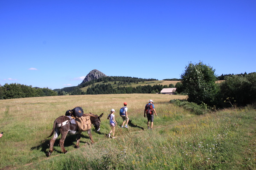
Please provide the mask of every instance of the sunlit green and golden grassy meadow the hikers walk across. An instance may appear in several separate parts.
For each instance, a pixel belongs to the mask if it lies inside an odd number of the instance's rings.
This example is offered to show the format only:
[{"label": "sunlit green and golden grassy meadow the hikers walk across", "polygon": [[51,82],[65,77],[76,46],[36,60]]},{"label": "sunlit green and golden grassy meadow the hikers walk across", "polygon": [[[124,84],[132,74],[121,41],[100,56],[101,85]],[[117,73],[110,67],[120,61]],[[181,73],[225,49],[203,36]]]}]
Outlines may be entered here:
[{"label": "sunlit green and golden grassy meadow the hikers walk across", "polygon": [[[256,109],[253,106],[224,109],[196,116],[171,99],[186,96],[164,94],[106,94],[51,96],[0,100],[0,169],[3,170],[255,170]],[[158,116],[147,130],[143,111],[153,99]],[[121,128],[119,109],[128,103],[129,128]],[[66,154],[56,140],[47,157],[54,120],[69,109],[81,106],[85,113],[102,117],[101,130],[93,127],[94,144],[82,133],[67,136]],[[107,116],[116,110],[116,139]]]}]

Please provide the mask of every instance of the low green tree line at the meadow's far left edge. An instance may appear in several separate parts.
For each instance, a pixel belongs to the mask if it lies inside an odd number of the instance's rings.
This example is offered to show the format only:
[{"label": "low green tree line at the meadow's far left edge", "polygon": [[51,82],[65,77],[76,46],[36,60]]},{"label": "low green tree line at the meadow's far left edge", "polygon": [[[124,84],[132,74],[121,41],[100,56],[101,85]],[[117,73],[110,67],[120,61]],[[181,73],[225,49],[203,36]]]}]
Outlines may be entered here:
[{"label": "low green tree line at the meadow's far left edge", "polygon": [[57,96],[58,92],[49,88],[33,88],[31,85],[18,83],[0,85],[0,99],[17,99],[26,97]]}]

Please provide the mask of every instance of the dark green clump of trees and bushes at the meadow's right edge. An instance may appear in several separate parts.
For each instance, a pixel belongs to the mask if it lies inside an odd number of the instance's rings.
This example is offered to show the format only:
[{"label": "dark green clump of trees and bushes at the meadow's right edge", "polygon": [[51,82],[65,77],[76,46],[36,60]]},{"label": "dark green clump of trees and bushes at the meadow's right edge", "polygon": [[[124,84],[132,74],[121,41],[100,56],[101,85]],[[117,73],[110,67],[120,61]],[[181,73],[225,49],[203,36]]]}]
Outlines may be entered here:
[{"label": "dark green clump of trees and bushes at the meadow's right edge", "polygon": [[188,101],[198,105],[223,108],[256,102],[256,73],[229,75],[216,84],[215,70],[202,62],[189,63],[181,74],[177,92],[188,95]]}]

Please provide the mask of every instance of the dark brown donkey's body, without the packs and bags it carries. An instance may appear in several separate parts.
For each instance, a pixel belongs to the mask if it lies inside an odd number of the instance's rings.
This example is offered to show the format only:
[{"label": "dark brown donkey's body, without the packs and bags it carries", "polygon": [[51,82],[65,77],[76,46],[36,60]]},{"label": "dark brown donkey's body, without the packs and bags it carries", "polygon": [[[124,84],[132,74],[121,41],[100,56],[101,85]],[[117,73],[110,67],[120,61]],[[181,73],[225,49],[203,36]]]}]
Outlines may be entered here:
[{"label": "dark brown donkey's body, without the packs and bags it carries", "polygon": [[[98,115],[94,115],[92,113],[90,114],[84,114],[83,116],[90,116],[90,121],[91,124],[94,125],[94,127],[96,128],[97,131],[99,131],[99,126],[100,126],[100,118],[103,116],[103,113],[98,116]],[[62,125],[61,125],[62,124]],[[66,139],[67,134],[71,134],[71,135],[75,135],[77,134],[77,139],[76,139],[76,148],[79,148],[79,141],[81,139],[81,133],[82,131],[78,131],[76,129],[76,125],[74,124],[70,124],[70,118],[67,116],[60,116],[57,119],[55,119],[54,123],[53,123],[53,128],[52,128],[52,133],[50,134],[50,136],[48,136],[47,138],[51,137],[53,134],[54,136],[52,137],[52,139],[50,140],[50,149],[49,152],[47,153],[47,156],[50,156],[53,152],[53,144],[55,142],[55,140],[58,138],[58,136],[61,134],[61,139],[60,139],[60,146],[61,146],[61,151],[63,153],[66,153],[67,150],[65,150],[64,148],[64,141]],[[90,137],[91,143],[93,144],[93,138],[92,138],[92,133],[91,133],[91,129],[87,130],[87,133]]]}]

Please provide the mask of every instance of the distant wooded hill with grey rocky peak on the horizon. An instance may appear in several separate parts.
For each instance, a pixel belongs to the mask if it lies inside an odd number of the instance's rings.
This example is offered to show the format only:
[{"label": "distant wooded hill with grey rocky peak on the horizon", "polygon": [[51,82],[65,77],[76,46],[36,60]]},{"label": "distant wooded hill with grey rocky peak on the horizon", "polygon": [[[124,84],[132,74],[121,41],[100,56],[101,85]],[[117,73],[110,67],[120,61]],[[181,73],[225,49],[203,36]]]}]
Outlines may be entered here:
[{"label": "distant wooded hill with grey rocky peak on the horizon", "polygon": [[[94,69],[78,86],[56,89],[56,91],[58,91],[58,95],[158,93],[163,88],[174,87],[179,82],[170,80],[174,79],[158,80],[107,76]],[[171,84],[172,86],[170,86]]]}]

